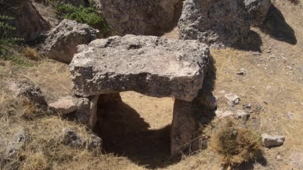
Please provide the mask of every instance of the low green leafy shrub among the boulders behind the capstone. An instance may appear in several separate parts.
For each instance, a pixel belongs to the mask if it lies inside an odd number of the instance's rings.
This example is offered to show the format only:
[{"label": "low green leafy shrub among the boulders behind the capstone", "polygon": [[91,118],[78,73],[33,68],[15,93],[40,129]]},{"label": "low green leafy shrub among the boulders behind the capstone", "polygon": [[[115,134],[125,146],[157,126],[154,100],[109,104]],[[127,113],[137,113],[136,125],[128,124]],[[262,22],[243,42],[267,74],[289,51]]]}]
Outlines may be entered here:
[{"label": "low green leafy shrub among the boulders behind the capstone", "polygon": [[110,32],[110,27],[104,19],[98,15],[93,7],[85,7],[80,5],[76,7],[72,4],[56,4],[56,15],[61,19],[75,20],[79,23],[86,23],[93,28],[99,29],[106,36]]}]

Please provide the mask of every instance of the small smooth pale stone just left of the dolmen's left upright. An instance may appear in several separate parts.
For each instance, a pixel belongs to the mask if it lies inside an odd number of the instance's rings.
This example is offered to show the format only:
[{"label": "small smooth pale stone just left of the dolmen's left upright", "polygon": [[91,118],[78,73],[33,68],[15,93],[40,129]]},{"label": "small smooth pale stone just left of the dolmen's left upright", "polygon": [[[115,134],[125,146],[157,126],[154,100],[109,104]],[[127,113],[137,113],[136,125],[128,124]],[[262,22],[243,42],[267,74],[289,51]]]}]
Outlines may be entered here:
[{"label": "small smooth pale stone just left of the dolmen's left upright", "polygon": [[57,101],[49,103],[48,106],[62,114],[68,114],[77,110],[77,105],[74,103],[72,96],[61,97]]}]

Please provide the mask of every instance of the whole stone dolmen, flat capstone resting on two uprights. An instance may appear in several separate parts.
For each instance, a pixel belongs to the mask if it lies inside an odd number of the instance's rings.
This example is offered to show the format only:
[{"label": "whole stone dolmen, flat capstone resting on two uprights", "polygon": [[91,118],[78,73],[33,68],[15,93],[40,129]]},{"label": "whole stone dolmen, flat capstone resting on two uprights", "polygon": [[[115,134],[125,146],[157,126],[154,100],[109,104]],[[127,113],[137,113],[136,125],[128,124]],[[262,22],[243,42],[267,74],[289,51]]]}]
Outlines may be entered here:
[{"label": "whole stone dolmen, flat capstone resting on two uprights", "polygon": [[119,92],[173,97],[170,150],[176,156],[189,149],[196,135],[191,105],[202,88],[209,56],[207,45],[197,40],[155,36],[113,36],[79,45],[69,65],[78,96],[75,115],[93,128],[99,100],[119,100]]}]

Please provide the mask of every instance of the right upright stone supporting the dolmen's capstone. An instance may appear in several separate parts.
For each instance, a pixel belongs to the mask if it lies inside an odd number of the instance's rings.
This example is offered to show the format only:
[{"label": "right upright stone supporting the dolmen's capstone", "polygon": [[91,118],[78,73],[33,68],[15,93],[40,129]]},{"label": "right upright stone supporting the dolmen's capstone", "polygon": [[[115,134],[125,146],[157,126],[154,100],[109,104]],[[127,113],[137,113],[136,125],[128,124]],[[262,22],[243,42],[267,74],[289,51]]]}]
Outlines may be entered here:
[{"label": "right upright stone supporting the dolmen's capstone", "polygon": [[195,137],[192,102],[175,99],[170,128],[170,155],[177,156],[190,148],[190,143]]}]

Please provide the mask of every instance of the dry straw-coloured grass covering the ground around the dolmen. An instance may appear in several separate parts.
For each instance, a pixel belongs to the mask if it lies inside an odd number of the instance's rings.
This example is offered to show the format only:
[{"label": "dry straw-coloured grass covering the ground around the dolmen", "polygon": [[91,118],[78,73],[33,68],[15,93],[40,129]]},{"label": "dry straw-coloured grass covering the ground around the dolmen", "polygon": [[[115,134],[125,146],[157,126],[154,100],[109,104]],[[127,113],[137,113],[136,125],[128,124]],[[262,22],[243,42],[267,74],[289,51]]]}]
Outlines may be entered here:
[{"label": "dry straw-coloured grass covering the ground around the dolmen", "polygon": [[[294,29],[297,44],[289,44],[264,33],[259,28],[252,28],[260,35],[263,42],[260,47],[263,51],[261,55],[233,48],[211,49],[216,68],[213,93],[218,97],[218,109],[223,111],[230,109],[224,99],[224,94],[236,93],[240,96],[240,104],[235,109],[243,109],[242,104],[244,103],[251,103],[252,110],[255,109],[255,106],[264,108],[263,111],[254,110],[247,122],[237,122],[241,127],[250,127],[257,135],[266,132],[286,137],[286,141],[281,147],[270,150],[261,148],[267,165],[252,163],[254,169],[261,170],[296,169],[289,164],[288,157],[294,150],[303,151],[303,129],[301,128],[303,121],[301,111],[303,110],[303,7],[301,4],[293,5],[288,0],[276,0],[275,5],[281,10],[286,22]],[[167,36],[177,37],[176,32],[177,30],[174,30]],[[271,53],[266,53],[269,48],[271,48]],[[60,115],[54,115],[47,108],[41,108],[25,98],[14,97],[7,90],[5,82],[10,79],[30,79],[41,87],[48,100],[52,100],[58,96],[71,94],[68,67],[65,64],[46,59],[25,61],[30,63],[30,67],[0,62],[0,164],[1,160],[7,159],[4,158],[5,154],[3,153],[6,152],[9,142],[14,140],[15,134],[23,130],[27,137],[19,154],[10,158],[9,164],[0,165],[2,166],[0,169],[11,170],[19,167],[24,170],[146,170],[147,167],[151,167],[138,164],[136,159],[131,159],[136,155],[133,157],[112,154],[95,155],[86,148],[73,149],[63,145],[62,130],[64,128],[74,129],[83,137],[88,135],[86,128],[68,121]],[[248,74],[237,76],[235,73],[240,68],[245,68]],[[159,100],[133,92],[122,93],[122,97],[133,109],[133,112],[140,114],[139,118],[145,122],[144,126],[149,125],[150,132],[156,132],[171,122],[172,99]],[[289,111],[295,114],[295,120],[290,120],[287,117]],[[134,124],[123,123],[135,127]],[[212,141],[216,139],[216,141],[220,141],[215,133],[222,127],[222,124],[222,121],[215,118],[204,128],[204,135],[212,137]],[[157,135],[159,134],[161,135],[161,133],[157,133]],[[146,141],[156,142],[155,139],[153,137]],[[121,140],[123,139],[121,138]],[[135,142],[137,142],[135,146],[142,145],[140,140]],[[247,145],[245,146],[247,147]],[[163,150],[165,148],[155,149]],[[146,151],[142,150],[142,152]],[[277,161],[275,159],[277,155],[280,155],[283,160]],[[181,161],[176,163],[163,163],[161,156],[154,156],[152,158],[154,160],[149,163],[160,162],[163,164],[161,167],[154,168],[157,170],[218,170],[221,161],[215,159],[217,156],[216,152],[207,148],[199,153],[184,156]],[[151,160],[151,157],[148,159]],[[227,162],[240,162],[238,158],[236,160],[238,161]]]}]

